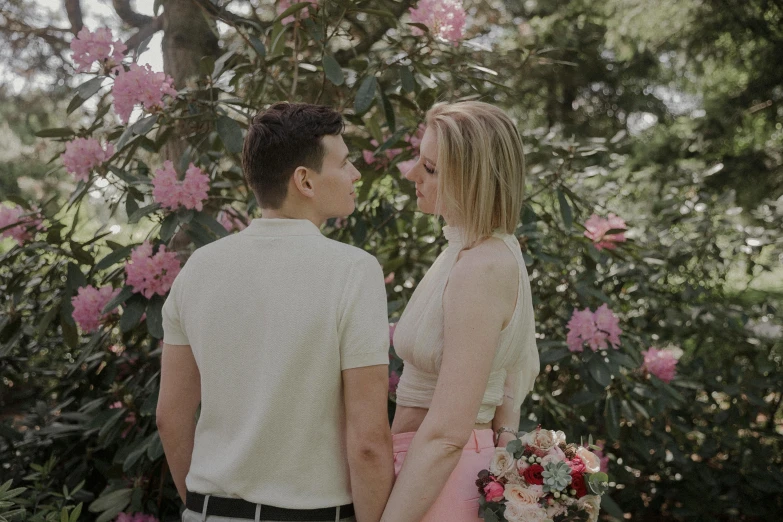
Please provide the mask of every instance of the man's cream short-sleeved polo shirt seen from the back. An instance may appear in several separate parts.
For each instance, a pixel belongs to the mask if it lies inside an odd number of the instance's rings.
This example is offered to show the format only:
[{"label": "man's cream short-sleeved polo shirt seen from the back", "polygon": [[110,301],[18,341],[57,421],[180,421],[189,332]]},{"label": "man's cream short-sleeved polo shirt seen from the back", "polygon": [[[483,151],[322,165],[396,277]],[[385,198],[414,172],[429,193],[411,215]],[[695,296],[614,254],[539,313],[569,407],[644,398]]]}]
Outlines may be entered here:
[{"label": "man's cream short-sleeved polo shirt seen from the back", "polygon": [[201,374],[190,491],[291,509],[351,502],[341,371],[389,363],[373,256],[307,220],[253,220],[191,256],[163,330]]}]

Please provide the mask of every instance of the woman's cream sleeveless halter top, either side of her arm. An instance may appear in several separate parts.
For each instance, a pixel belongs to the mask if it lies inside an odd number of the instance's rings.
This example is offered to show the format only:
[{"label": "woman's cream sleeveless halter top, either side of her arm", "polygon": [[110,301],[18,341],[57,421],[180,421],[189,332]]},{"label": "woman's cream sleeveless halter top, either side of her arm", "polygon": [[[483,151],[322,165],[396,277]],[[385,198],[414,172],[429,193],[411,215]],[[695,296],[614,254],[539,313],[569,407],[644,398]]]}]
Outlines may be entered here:
[{"label": "woman's cream sleeveless halter top, either side of her arm", "polygon": [[[394,332],[394,349],[405,366],[397,387],[397,404],[429,408],[443,357],[443,291],[457,256],[463,249],[459,229],[444,227],[449,245],[433,263],[413,292]],[[490,422],[503,404],[506,376],[518,372],[514,408],[519,410],[539,372],[530,281],[519,242],[511,234],[496,232],[519,263],[519,286],[514,315],[500,333],[477,424]],[[470,368],[465,368],[466,372]]]}]

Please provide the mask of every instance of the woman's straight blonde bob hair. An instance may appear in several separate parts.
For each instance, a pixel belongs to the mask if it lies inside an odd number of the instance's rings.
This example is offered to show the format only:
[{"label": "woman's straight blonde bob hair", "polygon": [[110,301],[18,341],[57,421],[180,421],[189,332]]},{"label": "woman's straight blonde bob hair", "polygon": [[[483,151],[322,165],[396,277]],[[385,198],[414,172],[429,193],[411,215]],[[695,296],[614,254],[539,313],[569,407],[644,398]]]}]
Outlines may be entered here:
[{"label": "woman's straight blonde bob hair", "polygon": [[513,234],[525,193],[525,156],[516,126],[488,103],[438,103],[427,112],[438,140],[438,213],[472,246]]}]

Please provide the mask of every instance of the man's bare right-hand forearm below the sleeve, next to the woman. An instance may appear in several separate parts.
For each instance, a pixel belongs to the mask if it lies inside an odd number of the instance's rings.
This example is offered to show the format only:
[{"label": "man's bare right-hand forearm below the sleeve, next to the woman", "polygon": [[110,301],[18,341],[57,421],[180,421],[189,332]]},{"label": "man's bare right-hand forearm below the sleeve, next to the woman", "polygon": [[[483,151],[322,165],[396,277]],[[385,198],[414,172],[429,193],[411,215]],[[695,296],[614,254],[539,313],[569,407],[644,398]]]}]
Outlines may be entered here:
[{"label": "man's bare right-hand forearm below the sleeve, next to the woman", "polygon": [[343,370],[351,492],[357,522],[378,522],[394,483],[387,365]]}]

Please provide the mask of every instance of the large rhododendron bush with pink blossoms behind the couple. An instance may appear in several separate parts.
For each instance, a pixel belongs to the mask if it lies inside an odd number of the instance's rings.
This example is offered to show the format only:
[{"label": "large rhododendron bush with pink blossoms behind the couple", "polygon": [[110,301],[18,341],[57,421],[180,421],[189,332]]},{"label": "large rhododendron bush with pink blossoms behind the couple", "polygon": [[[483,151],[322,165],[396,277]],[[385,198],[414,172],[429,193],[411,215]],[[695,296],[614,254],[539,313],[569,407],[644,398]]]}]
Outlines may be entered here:
[{"label": "large rhododendron bush with pink blossoms behind the couple", "polygon": [[[377,256],[393,324],[445,246],[401,173],[426,110],[467,98],[502,106],[526,145],[516,233],[542,368],[522,428],[602,439],[607,516],[687,517],[706,494],[718,511],[738,498],[780,506],[783,477],[767,468],[781,464],[781,361],[775,339],[747,326],[771,313],[721,295],[725,252],[745,237],[709,212],[680,211],[696,181],[659,200],[652,181],[621,192],[631,138],[578,142],[529,110],[562,64],[502,3],[266,4],[255,17],[199,13],[220,17],[220,47],[181,85],[139,64],[111,28],[73,37],[73,101],[61,126],[39,132],[51,176],[72,190],[0,203],[0,401],[10,412],[0,476],[29,487],[14,502],[41,520],[63,510],[70,520],[177,519],[155,427],[161,308],[190,253],[260,215],[239,157],[255,111],[287,99],[344,114],[358,208],[323,232]],[[542,38],[550,29],[537,28]],[[713,205],[717,215],[732,202]],[[87,207],[102,221],[85,220]],[[404,367],[393,348],[390,360],[393,411]]]}]

